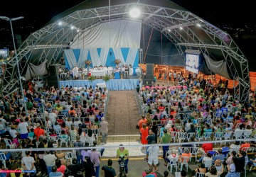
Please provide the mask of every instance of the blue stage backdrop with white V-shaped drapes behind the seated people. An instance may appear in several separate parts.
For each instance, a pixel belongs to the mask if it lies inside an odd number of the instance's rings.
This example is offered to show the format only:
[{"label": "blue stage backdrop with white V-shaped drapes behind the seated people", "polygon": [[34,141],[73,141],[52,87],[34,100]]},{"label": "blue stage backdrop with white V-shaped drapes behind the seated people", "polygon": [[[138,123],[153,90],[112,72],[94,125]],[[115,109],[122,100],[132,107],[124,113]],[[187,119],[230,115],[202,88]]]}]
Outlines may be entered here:
[{"label": "blue stage backdrop with white V-shaped drapes behind the seated people", "polygon": [[[114,59],[121,59],[121,64],[132,64],[134,74],[139,66],[139,49],[137,48],[97,48],[97,49],[70,49],[65,50],[65,67],[70,69],[75,65],[85,67],[85,60],[91,60],[94,66],[115,66]],[[87,67],[87,66],[86,66]]]}]

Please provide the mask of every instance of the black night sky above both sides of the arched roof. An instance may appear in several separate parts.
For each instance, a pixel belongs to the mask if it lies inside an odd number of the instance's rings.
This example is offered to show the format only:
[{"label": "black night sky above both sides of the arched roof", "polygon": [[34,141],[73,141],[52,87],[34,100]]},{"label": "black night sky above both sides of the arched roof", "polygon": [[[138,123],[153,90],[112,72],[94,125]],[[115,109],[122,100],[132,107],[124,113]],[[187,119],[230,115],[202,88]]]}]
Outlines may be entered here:
[{"label": "black night sky above both sides of the arched roof", "polygon": [[[255,23],[255,20],[253,19],[255,17],[255,6],[252,5],[253,1],[240,1],[239,4],[230,0],[173,1],[213,24],[233,23],[243,25]],[[50,21],[53,16],[56,16],[81,2],[82,0],[1,1],[0,16],[24,16],[24,20],[22,20],[23,24],[34,25],[35,28],[40,28]],[[3,24],[2,21],[0,21],[0,25],[1,24]]]}]

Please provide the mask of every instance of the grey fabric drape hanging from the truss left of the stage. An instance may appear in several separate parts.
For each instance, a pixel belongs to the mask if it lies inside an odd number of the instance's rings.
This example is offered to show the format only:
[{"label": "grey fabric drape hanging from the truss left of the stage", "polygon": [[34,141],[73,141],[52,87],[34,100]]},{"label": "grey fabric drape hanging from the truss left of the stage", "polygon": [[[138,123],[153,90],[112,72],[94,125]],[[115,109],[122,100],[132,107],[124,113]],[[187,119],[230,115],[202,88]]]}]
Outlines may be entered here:
[{"label": "grey fabric drape hanging from the truss left of the stage", "polygon": [[36,65],[33,65],[33,64],[28,64],[28,68],[26,70],[26,75],[25,75],[25,79],[26,81],[32,79],[33,77],[36,77],[36,76],[43,76],[43,75],[46,75],[48,72],[47,72],[47,69],[46,69],[46,61],[44,61],[43,63],[41,63],[40,65],[36,66]]}]

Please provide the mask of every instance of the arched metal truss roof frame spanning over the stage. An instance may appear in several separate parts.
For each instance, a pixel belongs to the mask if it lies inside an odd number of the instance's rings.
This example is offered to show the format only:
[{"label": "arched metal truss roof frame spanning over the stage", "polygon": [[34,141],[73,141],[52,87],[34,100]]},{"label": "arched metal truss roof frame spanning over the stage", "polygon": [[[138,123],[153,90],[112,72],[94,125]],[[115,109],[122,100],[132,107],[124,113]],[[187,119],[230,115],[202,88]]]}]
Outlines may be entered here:
[{"label": "arched metal truss roof frame spanning over the stage", "polygon": [[[129,17],[129,9],[134,6],[142,12],[138,19]],[[247,101],[250,91],[248,62],[230,35],[189,11],[142,3],[73,11],[68,16],[63,16],[35,31],[17,50],[21,74],[25,74],[28,63],[40,64],[47,59],[48,65],[54,64],[71,42],[83,38],[82,34],[96,25],[122,19],[141,21],[159,30],[176,45],[183,59],[185,59],[185,50],[200,50],[208,56],[213,56],[209,49],[218,50],[226,60],[233,79],[239,83],[239,101]],[[59,25],[59,22],[62,22],[62,25]],[[204,36],[198,36],[195,28],[201,30]],[[18,83],[16,70],[16,60],[11,58],[6,66],[1,89],[4,96],[16,91]]]}]

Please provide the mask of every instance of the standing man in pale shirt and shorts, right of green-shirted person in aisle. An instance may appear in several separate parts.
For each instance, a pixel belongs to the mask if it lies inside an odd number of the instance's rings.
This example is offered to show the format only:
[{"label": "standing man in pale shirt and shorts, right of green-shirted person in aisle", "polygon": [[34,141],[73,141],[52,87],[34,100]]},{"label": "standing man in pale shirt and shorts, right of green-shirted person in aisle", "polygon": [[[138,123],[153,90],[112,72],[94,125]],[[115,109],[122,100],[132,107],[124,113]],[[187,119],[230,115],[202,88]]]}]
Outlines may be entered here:
[{"label": "standing man in pale shirt and shorts, right of green-shirted person in aisle", "polygon": [[[156,142],[153,141],[151,144],[156,144]],[[149,160],[148,160],[149,166],[154,166],[154,170],[158,171],[156,165],[159,164],[159,161],[158,161],[159,146],[149,147],[147,149],[147,152],[149,153]]]}]

